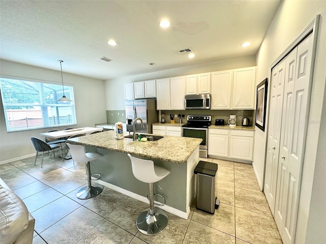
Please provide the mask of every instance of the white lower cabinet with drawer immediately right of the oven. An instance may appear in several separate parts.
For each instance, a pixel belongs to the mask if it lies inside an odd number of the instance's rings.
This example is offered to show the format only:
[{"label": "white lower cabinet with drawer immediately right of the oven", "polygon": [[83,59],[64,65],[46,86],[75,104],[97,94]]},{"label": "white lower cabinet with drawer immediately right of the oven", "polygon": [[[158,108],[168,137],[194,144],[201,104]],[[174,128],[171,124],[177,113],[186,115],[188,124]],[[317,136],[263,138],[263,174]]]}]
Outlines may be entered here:
[{"label": "white lower cabinet with drawer immediately right of the oven", "polygon": [[229,130],[208,129],[208,155],[229,157]]}]

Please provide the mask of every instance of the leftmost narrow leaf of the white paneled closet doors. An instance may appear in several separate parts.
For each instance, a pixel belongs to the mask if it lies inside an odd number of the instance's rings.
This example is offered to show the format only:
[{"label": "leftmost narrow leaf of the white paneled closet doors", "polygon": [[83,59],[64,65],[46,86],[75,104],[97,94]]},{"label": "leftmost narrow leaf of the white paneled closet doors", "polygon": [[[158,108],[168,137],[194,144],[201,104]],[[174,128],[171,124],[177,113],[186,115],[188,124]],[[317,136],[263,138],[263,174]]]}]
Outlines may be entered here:
[{"label": "leftmost narrow leaf of the white paneled closet doors", "polygon": [[285,78],[285,60],[283,59],[271,70],[271,90],[268,123],[268,141],[264,194],[274,216],[275,195],[277,186],[278,159],[280,151],[282,105]]}]

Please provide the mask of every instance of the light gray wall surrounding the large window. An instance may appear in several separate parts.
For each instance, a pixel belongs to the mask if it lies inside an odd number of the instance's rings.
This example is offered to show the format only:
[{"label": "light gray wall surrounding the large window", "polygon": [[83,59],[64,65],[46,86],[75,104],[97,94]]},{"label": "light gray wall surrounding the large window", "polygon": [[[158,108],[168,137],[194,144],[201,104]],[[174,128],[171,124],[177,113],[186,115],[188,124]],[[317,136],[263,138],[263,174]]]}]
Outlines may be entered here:
[{"label": "light gray wall surrounding the large window", "polygon": [[[0,74],[15,78],[28,78],[61,84],[60,71],[0,60]],[[64,83],[73,85],[78,127],[95,127],[106,121],[104,81],[64,73]],[[58,129],[63,129],[58,127]],[[3,105],[0,106],[0,164],[13,159],[34,155],[31,136],[39,137],[48,129],[7,132]]]}]

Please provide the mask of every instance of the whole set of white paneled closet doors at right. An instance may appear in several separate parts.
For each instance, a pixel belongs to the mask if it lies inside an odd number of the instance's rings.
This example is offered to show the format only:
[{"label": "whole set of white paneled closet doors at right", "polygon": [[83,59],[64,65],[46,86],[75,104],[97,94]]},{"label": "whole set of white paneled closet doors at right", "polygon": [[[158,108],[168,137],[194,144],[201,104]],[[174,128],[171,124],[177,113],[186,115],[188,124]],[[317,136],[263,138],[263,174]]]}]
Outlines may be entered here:
[{"label": "whole set of white paneled closet doors at right", "polygon": [[264,193],[283,243],[294,243],[310,105],[313,35],[271,71]]}]

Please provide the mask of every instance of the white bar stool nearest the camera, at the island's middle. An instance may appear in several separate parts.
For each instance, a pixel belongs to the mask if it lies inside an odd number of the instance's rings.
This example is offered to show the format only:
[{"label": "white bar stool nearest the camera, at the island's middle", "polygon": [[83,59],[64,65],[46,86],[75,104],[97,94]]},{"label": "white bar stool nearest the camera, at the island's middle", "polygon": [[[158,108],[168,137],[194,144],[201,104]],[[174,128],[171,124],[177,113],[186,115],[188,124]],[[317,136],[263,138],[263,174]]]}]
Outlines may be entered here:
[{"label": "white bar stool nearest the camera, at the island's middle", "polygon": [[164,199],[164,204],[157,204],[159,206],[165,205],[165,197],[159,194],[154,194],[153,183],[166,177],[171,172],[167,169],[154,165],[151,160],[144,160],[132,157],[128,154],[131,160],[132,173],[135,178],[145,183],[149,183],[149,200],[150,207],[140,213],[136,220],[136,226],[140,232],[145,235],[156,235],[164,231],[168,225],[167,213],[157,207],[154,207],[154,195],[158,195]]}]

